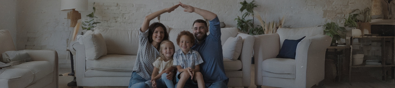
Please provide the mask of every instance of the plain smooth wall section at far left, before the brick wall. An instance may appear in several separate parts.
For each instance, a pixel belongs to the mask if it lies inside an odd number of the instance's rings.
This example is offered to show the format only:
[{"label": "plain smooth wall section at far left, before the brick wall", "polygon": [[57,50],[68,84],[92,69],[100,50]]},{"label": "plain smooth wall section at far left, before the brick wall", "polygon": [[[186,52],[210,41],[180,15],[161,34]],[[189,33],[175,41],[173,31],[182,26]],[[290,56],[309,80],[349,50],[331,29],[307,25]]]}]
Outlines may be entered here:
[{"label": "plain smooth wall section at far left, before the brick wall", "polygon": [[6,29],[11,33],[14,45],[17,45],[17,2],[0,0],[0,30]]}]

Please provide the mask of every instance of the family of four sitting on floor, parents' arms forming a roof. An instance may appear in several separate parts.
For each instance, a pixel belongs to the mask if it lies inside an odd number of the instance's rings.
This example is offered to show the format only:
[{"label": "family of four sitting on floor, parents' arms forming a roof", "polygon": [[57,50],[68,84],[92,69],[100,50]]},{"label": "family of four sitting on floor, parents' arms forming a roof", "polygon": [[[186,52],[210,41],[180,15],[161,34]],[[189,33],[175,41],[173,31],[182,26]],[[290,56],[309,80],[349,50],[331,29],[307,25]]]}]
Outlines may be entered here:
[{"label": "family of four sitting on floor, parents' arms forming a roof", "polygon": [[[185,12],[197,13],[210,23],[196,20],[193,33],[182,31],[177,36],[180,50],[162,23],[150,21],[160,14],[181,6]],[[210,34],[207,35],[207,32]],[[139,49],[129,88],[228,88],[221,45],[220,22],[216,14],[180,4],[156,11],[145,17],[139,32]],[[177,68],[177,73],[173,70]],[[173,84],[173,78],[176,84]]]}]

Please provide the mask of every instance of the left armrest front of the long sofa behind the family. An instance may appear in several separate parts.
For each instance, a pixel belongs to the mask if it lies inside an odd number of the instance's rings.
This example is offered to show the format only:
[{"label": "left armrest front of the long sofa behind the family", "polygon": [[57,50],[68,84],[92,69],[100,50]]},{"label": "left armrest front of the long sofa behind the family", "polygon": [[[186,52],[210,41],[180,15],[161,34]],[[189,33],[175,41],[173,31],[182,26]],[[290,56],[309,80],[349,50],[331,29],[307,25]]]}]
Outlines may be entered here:
[{"label": "left armrest front of the long sofa behind the family", "polygon": [[75,49],[76,61],[75,64],[77,66],[76,77],[77,84],[83,84],[83,77],[85,77],[86,70],[86,57],[85,57],[85,46],[83,44],[74,44],[73,48]]}]

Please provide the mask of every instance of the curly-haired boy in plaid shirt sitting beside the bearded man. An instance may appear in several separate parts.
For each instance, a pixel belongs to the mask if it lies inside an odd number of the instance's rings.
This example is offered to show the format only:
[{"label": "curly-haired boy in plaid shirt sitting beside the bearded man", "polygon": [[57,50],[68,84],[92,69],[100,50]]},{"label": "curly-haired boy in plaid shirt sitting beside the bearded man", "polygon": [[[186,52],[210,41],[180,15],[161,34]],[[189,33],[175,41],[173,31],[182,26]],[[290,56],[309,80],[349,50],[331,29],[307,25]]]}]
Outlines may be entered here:
[{"label": "curly-haired boy in plaid shirt sitting beside the bearded man", "polygon": [[177,88],[183,88],[186,83],[197,83],[204,88],[203,75],[199,72],[199,64],[203,63],[198,51],[190,49],[195,42],[194,35],[189,31],[182,31],[177,36],[177,45],[181,49],[173,55],[173,65],[177,66]]}]

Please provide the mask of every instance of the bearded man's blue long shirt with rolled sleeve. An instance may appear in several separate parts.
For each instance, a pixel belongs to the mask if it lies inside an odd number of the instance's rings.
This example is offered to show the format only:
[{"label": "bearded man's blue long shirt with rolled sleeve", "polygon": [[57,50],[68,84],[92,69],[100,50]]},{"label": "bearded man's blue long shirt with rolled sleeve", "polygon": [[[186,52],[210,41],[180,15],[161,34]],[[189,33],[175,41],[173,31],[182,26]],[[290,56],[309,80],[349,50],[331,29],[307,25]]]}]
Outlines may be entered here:
[{"label": "bearded man's blue long shirt with rolled sleeve", "polygon": [[206,85],[218,81],[226,81],[228,85],[229,78],[225,75],[224,56],[222,56],[220,21],[216,17],[209,23],[210,34],[200,44],[195,42],[191,49],[198,51],[203,59],[200,72]]}]

